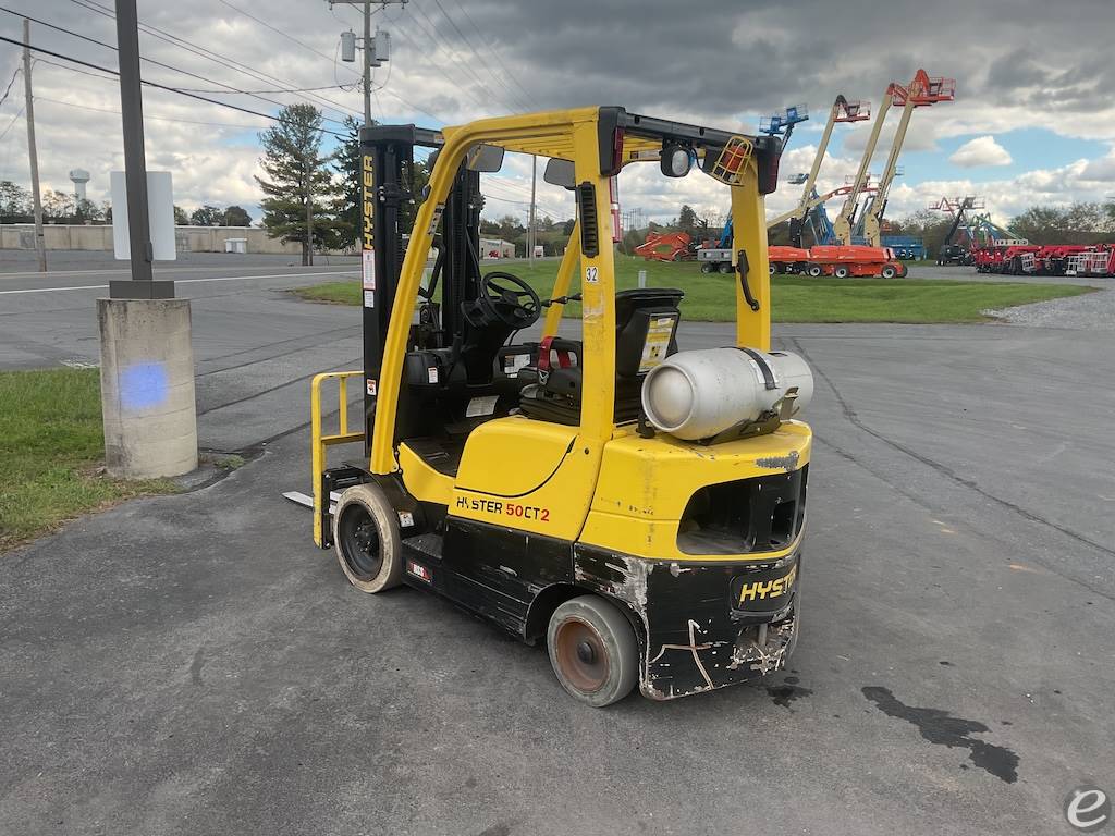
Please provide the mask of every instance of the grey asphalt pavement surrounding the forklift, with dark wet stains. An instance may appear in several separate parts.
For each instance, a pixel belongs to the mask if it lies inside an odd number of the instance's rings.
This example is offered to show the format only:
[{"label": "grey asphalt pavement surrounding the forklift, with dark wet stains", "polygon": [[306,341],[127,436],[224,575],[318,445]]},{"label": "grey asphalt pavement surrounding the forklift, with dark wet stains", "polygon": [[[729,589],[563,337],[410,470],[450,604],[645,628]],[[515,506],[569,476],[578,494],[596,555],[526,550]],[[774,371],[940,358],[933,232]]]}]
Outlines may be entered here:
[{"label": "grey asphalt pavement surrounding the forklift, with dark wet stains", "polygon": [[[1068,834],[1115,793],[1115,332],[777,325],[817,378],[791,670],[592,710],[312,547],[280,493],[358,312],[256,270],[180,294],[203,444],[263,455],[0,558],[0,833]],[[95,357],[98,292],[0,295],[0,368]]]}]

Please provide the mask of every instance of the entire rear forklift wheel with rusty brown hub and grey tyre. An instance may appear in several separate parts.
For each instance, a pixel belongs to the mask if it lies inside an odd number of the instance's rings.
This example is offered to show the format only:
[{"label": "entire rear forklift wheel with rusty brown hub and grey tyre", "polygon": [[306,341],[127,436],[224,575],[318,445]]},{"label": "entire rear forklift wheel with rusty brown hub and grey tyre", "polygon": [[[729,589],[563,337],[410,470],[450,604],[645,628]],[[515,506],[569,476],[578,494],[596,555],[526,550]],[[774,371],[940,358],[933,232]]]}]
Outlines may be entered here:
[{"label": "entire rear forklift wheel with rusty brown hub and grey tyre", "polygon": [[639,680],[634,629],[599,595],[580,595],[554,610],[546,649],[562,688],[593,708],[619,702]]}]

